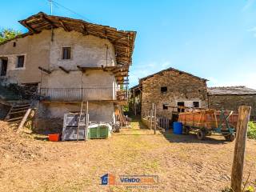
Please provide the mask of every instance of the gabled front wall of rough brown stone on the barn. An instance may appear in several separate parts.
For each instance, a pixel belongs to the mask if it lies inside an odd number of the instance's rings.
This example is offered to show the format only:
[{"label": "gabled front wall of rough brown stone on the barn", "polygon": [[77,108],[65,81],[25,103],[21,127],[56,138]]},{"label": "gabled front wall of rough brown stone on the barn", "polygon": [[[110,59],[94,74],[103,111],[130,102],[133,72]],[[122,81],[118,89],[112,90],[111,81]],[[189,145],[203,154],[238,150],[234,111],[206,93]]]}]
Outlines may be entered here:
[{"label": "gabled front wall of rough brown stone on the barn", "polygon": [[[167,87],[166,93],[161,93],[162,86]],[[164,104],[177,106],[177,102],[185,102],[185,106],[190,106],[199,102],[200,107],[207,107],[206,82],[174,70],[155,74],[142,82],[142,116],[151,109],[152,102],[157,106],[157,114],[168,118],[171,109],[163,110]]]}]

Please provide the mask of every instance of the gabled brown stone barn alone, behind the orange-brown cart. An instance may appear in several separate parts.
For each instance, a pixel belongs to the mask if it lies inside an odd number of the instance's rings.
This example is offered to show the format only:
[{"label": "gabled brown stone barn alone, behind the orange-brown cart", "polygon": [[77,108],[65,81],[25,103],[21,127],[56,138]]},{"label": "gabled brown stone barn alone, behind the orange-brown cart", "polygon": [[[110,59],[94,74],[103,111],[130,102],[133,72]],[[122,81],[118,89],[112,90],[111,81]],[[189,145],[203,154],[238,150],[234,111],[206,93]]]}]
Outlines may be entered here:
[{"label": "gabled brown stone barn alone, behind the orange-brown cart", "polygon": [[157,115],[172,117],[172,106],[207,108],[206,79],[174,68],[161,70],[139,80],[130,89],[130,110],[144,116],[155,103]]}]

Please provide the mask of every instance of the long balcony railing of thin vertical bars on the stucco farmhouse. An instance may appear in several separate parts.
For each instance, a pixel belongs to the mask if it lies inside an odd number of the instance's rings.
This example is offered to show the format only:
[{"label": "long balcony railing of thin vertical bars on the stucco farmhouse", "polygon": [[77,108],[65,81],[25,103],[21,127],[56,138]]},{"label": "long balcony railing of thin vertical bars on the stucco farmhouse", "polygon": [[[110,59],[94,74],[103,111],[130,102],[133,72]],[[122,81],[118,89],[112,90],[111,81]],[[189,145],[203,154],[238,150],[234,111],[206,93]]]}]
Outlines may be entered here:
[{"label": "long balcony railing of thin vertical bars on the stucco farmhouse", "polygon": [[42,100],[58,102],[127,100],[126,91],[113,87],[40,88],[38,94]]}]

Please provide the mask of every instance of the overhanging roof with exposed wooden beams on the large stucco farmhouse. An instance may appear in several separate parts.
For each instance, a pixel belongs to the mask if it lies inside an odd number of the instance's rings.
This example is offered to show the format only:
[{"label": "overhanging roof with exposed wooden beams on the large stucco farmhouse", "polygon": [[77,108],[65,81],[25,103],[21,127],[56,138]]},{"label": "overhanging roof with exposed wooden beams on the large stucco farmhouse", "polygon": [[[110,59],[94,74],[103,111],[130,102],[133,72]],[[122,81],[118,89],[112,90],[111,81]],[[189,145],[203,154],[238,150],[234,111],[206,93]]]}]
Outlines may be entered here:
[{"label": "overhanging roof with exposed wooden beams on the large stucco farmhouse", "polygon": [[[76,30],[84,35],[90,34],[99,38],[106,38],[114,45],[118,66],[129,66],[132,62],[134,41],[136,38],[135,31],[117,30],[110,26],[97,25],[81,19],[48,15],[43,12],[34,14],[19,22],[22,26],[25,26],[29,32],[18,35],[16,38],[23,38],[27,35],[38,34],[42,30],[62,27],[66,31]],[[10,41],[11,40],[13,39],[10,39]]]}]

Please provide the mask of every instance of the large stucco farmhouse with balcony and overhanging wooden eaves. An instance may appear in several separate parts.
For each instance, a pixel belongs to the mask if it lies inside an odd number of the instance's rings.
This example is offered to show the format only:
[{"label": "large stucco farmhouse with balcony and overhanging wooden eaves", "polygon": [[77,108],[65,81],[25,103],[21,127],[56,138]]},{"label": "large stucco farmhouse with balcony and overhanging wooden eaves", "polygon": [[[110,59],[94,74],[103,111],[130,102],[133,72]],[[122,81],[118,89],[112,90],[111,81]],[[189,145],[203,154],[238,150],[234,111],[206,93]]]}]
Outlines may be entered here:
[{"label": "large stucco farmhouse with balcony and overhanging wooden eaves", "polygon": [[0,45],[0,81],[36,86],[38,129],[61,128],[82,101],[91,121],[115,122],[127,102],[136,32],[42,12],[19,22],[29,31]]}]

